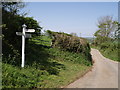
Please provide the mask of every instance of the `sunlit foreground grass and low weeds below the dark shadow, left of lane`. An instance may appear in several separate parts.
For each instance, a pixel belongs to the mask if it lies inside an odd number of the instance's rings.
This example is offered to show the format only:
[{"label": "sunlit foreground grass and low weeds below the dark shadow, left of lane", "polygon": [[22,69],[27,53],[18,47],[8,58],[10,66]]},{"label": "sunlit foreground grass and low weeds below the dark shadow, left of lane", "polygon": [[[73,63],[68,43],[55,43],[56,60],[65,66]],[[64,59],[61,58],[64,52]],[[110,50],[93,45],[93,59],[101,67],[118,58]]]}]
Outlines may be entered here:
[{"label": "sunlit foreground grass and low weeds below the dark shadow, left of lane", "polygon": [[59,63],[63,64],[65,69],[60,70],[58,75],[33,67],[21,69],[3,64],[3,88],[60,88],[75,81],[91,69],[89,66],[71,62]]}]

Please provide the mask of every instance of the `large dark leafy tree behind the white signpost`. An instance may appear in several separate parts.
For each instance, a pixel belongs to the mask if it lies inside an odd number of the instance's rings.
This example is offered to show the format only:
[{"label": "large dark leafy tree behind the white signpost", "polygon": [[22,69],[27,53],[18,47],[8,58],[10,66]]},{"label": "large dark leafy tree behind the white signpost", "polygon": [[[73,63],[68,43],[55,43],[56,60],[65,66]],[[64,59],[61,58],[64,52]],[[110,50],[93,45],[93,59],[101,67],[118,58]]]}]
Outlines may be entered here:
[{"label": "large dark leafy tree behind the white signpost", "polygon": [[[27,28],[34,28],[35,35],[39,35],[42,27],[32,17],[25,17],[19,11],[24,7],[22,2],[3,2],[2,3],[2,47],[3,61],[15,63],[21,54],[21,37],[16,32],[22,31],[22,25],[26,24]],[[26,40],[26,43],[28,40]],[[6,62],[6,61],[5,61]]]}]

